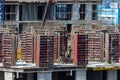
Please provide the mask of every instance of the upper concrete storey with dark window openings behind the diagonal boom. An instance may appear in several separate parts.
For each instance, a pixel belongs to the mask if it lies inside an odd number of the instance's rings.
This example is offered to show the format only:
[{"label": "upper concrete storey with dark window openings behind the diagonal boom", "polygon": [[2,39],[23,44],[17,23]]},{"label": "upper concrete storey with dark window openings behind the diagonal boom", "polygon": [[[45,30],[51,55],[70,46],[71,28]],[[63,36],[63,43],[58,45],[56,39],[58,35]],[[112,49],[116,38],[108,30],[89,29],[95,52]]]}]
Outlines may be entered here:
[{"label": "upper concrete storey with dark window openings behind the diagonal boom", "polygon": [[[19,28],[20,31],[26,30],[26,26],[41,26],[46,2],[47,0],[5,0],[5,26]],[[58,27],[68,26],[68,24],[92,25],[92,23],[99,23],[95,13],[97,8],[93,7],[100,3],[101,0],[53,0],[49,3],[50,8],[47,10],[45,26]],[[69,9],[69,11],[62,12],[62,8]],[[74,12],[76,13],[73,11],[74,8],[79,10],[78,19],[72,15]],[[85,12],[89,13],[89,16]]]}]

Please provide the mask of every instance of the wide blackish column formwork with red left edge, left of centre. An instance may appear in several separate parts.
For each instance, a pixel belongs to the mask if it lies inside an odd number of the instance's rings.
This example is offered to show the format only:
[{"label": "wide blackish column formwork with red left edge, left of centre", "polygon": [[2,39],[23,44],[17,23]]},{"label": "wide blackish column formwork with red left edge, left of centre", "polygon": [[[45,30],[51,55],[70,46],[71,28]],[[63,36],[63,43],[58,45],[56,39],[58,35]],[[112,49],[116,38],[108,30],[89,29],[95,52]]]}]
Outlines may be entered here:
[{"label": "wide blackish column formwork with red left edge, left of centre", "polygon": [[34,40],[36,50],[34,51],[34,57],[36,58],[35,63],[39,67],[49,67],[54,63],[55,56],[57,55],[56,50],[56,37],[55,35],[36,35]]}]

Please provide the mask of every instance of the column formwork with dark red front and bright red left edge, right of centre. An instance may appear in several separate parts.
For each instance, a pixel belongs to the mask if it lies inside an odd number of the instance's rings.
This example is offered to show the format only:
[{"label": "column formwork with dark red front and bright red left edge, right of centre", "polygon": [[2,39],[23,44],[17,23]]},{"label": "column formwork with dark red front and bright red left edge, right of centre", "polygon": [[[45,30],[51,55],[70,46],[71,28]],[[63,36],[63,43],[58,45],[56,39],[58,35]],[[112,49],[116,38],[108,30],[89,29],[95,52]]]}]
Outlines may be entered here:
[{"label": "column formwork with dark red front and bright red left edge, right of centre", "polygon": [[87,64],[88,53],[88,35],[87,34],[72,34],[71,48],[73,62],[76,65],[85,66]]}]

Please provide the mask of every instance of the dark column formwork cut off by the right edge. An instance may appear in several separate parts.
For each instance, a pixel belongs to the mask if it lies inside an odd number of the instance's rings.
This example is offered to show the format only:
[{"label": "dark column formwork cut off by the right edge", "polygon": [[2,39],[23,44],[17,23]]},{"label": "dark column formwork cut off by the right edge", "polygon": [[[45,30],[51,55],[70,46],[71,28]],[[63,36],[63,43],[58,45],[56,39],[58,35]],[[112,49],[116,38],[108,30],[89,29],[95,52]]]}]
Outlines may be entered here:
[{"label": "dark column formwork cut off by the right edge", "polygon": [[109,33],[108,35],[108,62],[120,62],[120,33]]}]

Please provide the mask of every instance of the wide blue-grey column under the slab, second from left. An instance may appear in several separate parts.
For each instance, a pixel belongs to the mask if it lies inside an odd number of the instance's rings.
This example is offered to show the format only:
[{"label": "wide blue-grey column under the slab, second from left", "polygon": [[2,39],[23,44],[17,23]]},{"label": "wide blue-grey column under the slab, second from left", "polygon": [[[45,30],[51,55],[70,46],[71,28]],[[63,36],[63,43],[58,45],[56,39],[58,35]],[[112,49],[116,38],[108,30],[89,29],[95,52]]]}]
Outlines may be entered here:
[{"label": "wide blue-grey column under the slab, second from left", "polygon": [[38,72],[37,80],[52,80],[52,72]]}]

